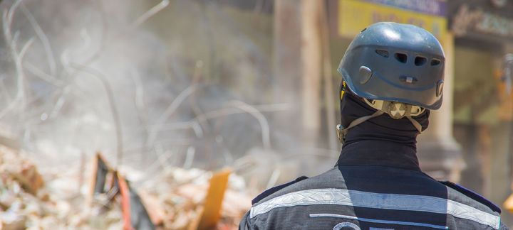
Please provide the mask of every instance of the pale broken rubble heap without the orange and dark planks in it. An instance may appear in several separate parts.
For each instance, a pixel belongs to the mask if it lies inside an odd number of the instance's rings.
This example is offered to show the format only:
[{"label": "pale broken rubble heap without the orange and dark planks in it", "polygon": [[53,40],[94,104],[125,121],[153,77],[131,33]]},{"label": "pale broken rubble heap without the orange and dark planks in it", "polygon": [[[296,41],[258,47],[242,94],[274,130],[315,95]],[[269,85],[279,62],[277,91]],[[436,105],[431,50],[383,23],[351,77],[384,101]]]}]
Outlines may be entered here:
[{"label": "pale broken rubble heap without the orange and dark planks in it", "polygon": [[[209,185],[213,174],[172,168],[150,181],[127,184],[137,191],[155,229],[199,229],[202,214],[207,212],[207,191],[209,186],[216,186]],[[121,205],[123,199],[115,196],[115,192],[93,195],[86,188],[74,195],[63,195],[69,192],[57,191],[51,186],[52,180],[56,180],[56,175],[41,175],[24,155],[0,146],[0,229],[130,229],[126,224],[127,212]],[[251,207],[251,196],[244,187],[241,177],[229,176],[214,229],[237,229]],[[132,219],[139,218],[130,215]]]}]

